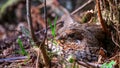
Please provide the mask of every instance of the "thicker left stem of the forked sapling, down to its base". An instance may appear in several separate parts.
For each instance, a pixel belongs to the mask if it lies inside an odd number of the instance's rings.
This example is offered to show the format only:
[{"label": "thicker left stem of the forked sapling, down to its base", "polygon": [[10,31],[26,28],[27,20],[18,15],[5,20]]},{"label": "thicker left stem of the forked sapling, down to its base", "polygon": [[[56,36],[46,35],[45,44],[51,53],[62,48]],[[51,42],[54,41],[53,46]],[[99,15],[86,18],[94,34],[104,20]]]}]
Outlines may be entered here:
[{"label": "thicker left stem of the forked sapling, down to its base", "polygon": [[[45,0],[45,5],[46,5],[46,0]],[[29,29],[30,29],[30,32],[31,32],[32,39],[33,39],[34,42],[38,42],[37,38],[35,37],[33,26],[32,26],[32,19],[31,19],[31,13],[30,13],[31,0],[26,0],[26,8],[27,8],[27,22],[28,22],[28,25],[29,25]],[[47,24],[46,24],[46,26],[47,26]],[[45,35],[45,38],[44,38],[43,42],[41,43],[41,45],[40,45],[40,43],[35,43],[35,45],[40,47],[41,54],[43,56],[43,61],[44,61],[45,65],[47,67],[49,67],[50,61],[49,61],[49,57],[48,57],[46,49],[45,49],[45,39],[46,39],[46,35]],[[39,55],[38,55],[38,58],[39,58]],[[39,64],[37,63],[36,65],[39,65]]]}]

